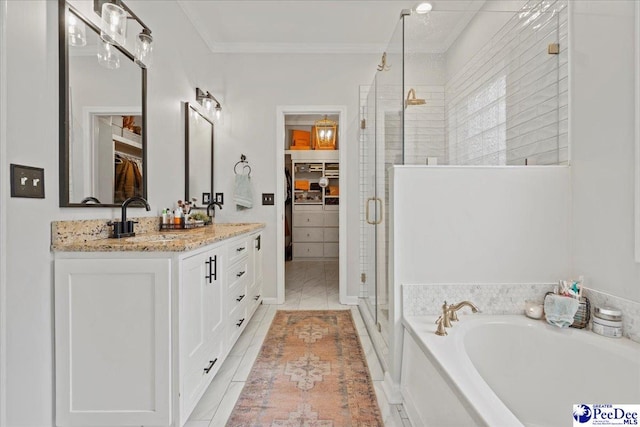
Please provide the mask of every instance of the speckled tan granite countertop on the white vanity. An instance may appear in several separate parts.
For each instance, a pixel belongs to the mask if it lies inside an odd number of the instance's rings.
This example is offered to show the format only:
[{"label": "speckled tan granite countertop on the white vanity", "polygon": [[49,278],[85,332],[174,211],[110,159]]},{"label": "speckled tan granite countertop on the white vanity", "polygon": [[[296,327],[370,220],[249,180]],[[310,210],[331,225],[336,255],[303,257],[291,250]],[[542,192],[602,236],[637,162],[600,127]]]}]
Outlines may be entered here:
[{"label": "speckled tan granite countertop on the white vanity", "polygon": [[213,224],[189,230],[162,231],[156,217],[138,221],[136,235],[109,238],[109,220],[53,221],[51,250],[54,252],[183,252],[197,249],[265,227],[263,223]]}]

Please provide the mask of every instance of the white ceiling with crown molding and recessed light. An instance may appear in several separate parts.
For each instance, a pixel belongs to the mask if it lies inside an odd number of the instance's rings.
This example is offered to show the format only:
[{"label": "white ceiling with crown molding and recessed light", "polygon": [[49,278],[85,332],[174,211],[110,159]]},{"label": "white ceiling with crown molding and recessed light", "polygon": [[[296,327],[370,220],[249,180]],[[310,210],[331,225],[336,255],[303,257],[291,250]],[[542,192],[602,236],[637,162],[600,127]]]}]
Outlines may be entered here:
[{"label": "white ceiling with crown molding and recessed light", "polygon": [[[380,53],[418,0],[178,0],[214,53]],[[433,50],[455,40],[484,0],[433,0],[444,9]]]}]

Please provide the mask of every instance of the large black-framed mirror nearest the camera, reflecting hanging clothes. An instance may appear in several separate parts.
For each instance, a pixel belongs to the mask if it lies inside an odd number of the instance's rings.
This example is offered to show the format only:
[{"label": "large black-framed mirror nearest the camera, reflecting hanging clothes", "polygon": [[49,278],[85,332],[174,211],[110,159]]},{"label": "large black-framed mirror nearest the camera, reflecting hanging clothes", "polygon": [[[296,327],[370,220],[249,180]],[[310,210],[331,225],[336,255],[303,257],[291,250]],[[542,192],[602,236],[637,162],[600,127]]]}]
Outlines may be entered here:
[{"label": "large black-framed mirror nearest the camera, reflecting hanging clothes", "polygon": [[146,68],[59,0],[60,206],[147,197]]}]

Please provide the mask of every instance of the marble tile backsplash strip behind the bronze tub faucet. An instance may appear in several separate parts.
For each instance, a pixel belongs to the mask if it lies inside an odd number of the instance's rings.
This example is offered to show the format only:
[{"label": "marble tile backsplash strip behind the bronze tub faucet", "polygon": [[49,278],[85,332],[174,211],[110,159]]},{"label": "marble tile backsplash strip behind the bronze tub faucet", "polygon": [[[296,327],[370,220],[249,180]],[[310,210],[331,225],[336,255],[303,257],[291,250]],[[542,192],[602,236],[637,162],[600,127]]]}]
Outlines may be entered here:
[{"label": "marble tile backsplash strip behind the bronze tub faucet", "polygon": [[[526,300],[540,301],[553,291],[554,283],[531,284],[427,284],[402,285],[404,316],[438,315],[442,303],[471,301],[483,314],[522,314]],[[459,314],[470,312],[468,309]]]}]

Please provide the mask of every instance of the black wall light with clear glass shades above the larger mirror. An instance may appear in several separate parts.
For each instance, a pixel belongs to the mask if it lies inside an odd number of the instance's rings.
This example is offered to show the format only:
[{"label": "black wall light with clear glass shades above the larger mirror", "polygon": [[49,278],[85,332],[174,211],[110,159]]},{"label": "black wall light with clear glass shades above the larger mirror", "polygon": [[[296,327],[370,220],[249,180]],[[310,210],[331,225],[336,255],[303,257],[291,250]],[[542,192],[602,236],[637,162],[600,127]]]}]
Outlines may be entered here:
[{"label": "black wall light with clear glass shades above the larger mirror", "polygon": [[140,24],[142,31],[136,37],[134,57],[138,65],[149,68],[153,60],[151,29],[122,0],[93,0],[93,9],[102,16],[100,37],[109,44],[125,46],[128,19]]}]

